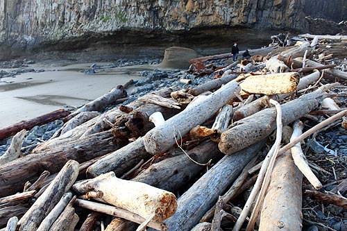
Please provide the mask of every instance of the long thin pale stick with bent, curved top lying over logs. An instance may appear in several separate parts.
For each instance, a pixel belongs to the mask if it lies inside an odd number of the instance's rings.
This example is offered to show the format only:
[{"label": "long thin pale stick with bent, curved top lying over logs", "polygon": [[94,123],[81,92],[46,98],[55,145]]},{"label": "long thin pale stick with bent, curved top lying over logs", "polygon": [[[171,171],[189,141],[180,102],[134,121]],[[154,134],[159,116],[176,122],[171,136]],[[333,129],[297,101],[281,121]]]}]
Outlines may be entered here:
[{"label": "long thin pale stick with bent, curved top lying over logs", "polygon": [[270,99],[270,103],[275,105],[277,115],[276,115],[276,124],[277,124],[277,131],[276,131],[276,141],[274,146],[276,146],[275,151],[273,152],[273,155],[271,156],[271,160],[269,163],[269,166],[266,169],[265,177],[262,182],[262,188],[260,189],[259,196],[257,197],[257,201],[254,205],[253,213],[251,215],[251,220],[248,222],[246,231],[252,231],[254,229],[255,225],[255,219],[257,219],[257,216],[260,211],[260,207],[262,205],[262,202],[265,197],[265,192],[267,187],[269,187],[270,179],[271,179],[271,173],[273,169],[273,165],[275,164],[277,153],[280,150],[280,142],[282,141],[282,110],[280,103],[277,101],[274,101],[273,99]]}]

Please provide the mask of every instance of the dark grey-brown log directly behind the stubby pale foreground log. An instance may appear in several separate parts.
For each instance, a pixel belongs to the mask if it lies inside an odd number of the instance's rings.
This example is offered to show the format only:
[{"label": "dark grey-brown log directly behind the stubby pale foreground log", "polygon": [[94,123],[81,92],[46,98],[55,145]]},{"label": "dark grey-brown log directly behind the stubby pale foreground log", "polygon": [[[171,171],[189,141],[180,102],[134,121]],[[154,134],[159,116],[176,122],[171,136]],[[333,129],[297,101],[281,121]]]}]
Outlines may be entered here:
[{"label": "dark grey-brown log directly behind the stubby pale foreground log", "polygon": [[[217,144],[212,141],[187,151],[187,155],[181,154],[155,163],[132,180],[167,191],[176,191],[196,177],[205,168],[203,164],[221,157]],[[196,164],[191,159],[201,164]]]}]

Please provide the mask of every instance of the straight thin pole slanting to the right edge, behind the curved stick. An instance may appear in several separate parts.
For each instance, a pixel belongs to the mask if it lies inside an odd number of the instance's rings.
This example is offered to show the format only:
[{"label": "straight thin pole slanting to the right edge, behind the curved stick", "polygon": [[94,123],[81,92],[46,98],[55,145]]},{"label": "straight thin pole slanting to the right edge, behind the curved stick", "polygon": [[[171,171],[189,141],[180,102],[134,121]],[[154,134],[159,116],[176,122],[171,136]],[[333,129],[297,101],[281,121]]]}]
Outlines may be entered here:
[{"label": "straight thin pole slanting to the right edge, behind the curved stick", "polygon": [[[312,135],[314,132],[318,131],[319,129],[324,128],[325,126],[330,125],[330,123],[333,123],[333,122],[337,121],[338,119],[341,119],[342,117],[344,117],[346,115],[347,115],[347,110],[343,110],[342,112],[339,112],[339,113],[333,115],[332,117],[330,117],[328,119],[325,119],[325,121],[322,121],[321,123],[318,123],[316,126],[310,128],[309,130],[304,132],[302,135],[300,135],[296,139],[293,139],[291,142],[289,142],[284,147],[280,148],[280,151],[278,151],[278,155],[277,156],[282,155],[283,153],[288,151],[290,148],[292,148],[296,144],[298,144],[298,142],[302,142],[303,139],[306,139],[307,137],[309,137],[310,135]],[[255,171],[257,171],[258,169],[260,169],[260,167],[262,166],[262,163],[263,162],[260,162],[259,164],[255,165],[252,169],[250,169],[248,171],[248,173],[251,174],[251,173],[254,173]]]}]

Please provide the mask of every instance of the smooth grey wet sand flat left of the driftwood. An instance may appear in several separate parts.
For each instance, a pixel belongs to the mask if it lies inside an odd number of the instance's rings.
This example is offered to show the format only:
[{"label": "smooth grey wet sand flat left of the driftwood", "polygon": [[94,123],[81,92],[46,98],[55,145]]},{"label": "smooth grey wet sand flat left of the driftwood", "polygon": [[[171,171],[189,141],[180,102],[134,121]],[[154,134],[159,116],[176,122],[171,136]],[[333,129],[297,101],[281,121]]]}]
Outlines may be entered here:
[{"label": "smooth grey wet sand flat left of the driftwood", "polygon": [[[98,62],[96,64],[105,65]],[[60,66],[31,65],[28,68],[45,71],[29,72],[15,78],[0,78],[0,128],[60,108],[83,105],[130,79],[144,78],[139,75],[139,71],[157,67],[157,65],[117,67],[91,75],[81,72],[90,65],[92,63]],[[131,89],[128,89],[128,93]]]}]

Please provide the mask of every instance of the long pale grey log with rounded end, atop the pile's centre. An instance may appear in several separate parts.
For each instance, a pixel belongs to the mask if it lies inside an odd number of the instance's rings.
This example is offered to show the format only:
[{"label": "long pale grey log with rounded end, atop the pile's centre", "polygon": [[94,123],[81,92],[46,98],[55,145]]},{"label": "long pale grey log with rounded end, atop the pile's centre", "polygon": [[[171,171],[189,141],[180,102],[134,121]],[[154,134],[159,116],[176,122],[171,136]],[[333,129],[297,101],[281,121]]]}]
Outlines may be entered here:
[{"label": "long pale grey log with rounded end, atop the pile's centre", "polygon": [[186,108],[171,117],[162,126],[155,127],[144,136],[144,147],[152,154],[167,151],[176,142],[176,137],[187,134],[190,129],[210,119],[223,105],[239,93],[239,84],[230,82],[206,97],[199,105]]}]

